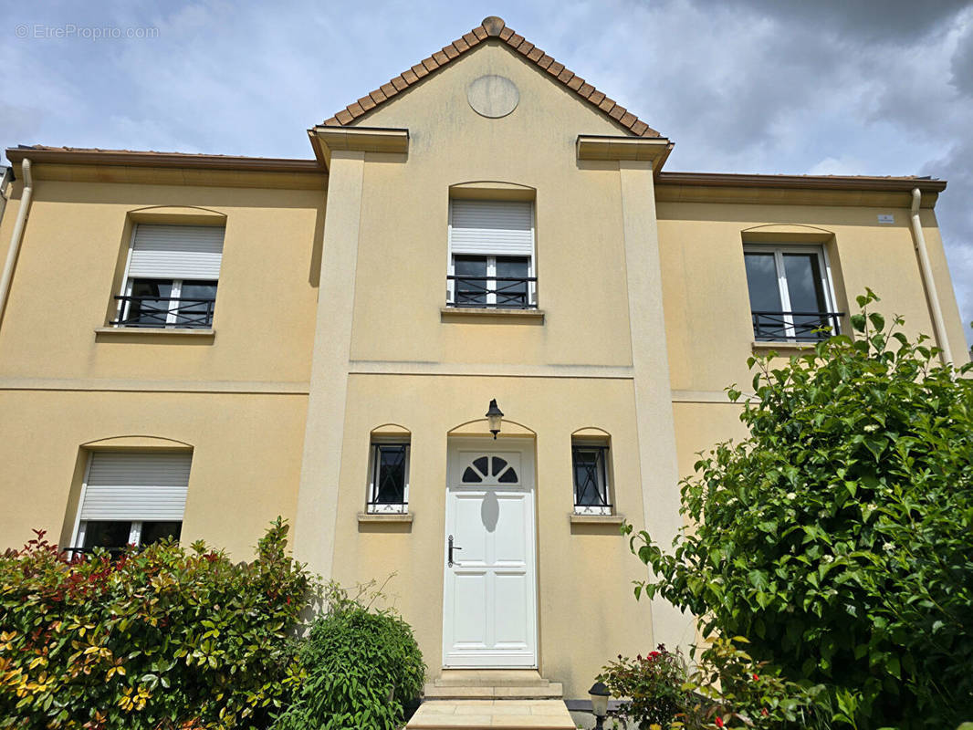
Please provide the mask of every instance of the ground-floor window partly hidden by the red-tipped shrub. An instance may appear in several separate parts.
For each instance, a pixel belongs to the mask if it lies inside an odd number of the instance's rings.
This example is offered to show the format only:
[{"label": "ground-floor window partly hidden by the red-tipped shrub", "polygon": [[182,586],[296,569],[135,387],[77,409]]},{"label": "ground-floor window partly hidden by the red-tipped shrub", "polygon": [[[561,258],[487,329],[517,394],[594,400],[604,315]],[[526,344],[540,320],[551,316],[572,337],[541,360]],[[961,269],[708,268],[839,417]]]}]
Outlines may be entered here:
[{"label": "ground-floor window partly hidden by the red-tipped shrub", "polygon": [[73,549],[119,551],[179,539],[192,458],[182,452],[92,453]]}]

